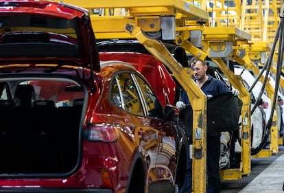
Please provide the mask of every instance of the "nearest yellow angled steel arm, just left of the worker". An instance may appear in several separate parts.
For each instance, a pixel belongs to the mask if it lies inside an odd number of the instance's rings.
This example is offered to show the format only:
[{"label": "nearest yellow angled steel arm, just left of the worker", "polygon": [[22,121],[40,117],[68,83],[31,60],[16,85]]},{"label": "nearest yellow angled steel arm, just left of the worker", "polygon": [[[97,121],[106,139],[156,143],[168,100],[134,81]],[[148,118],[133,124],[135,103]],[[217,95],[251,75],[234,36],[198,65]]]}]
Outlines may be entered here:
[{"label": "nearest yellow angled steel arm, just left of the worker", "polygon": [[[206,192],[206,96],[192,80],[192,71],[183,68],[169,53],[161,41],[143,36],[139,27],[134,27],[131,32],[141,44],[158,60],[166,65],[172,75],[187,91],[193,108],[193,192]],[[197,133],[199,132],[200,133]]]}]

